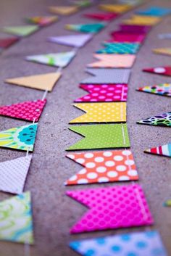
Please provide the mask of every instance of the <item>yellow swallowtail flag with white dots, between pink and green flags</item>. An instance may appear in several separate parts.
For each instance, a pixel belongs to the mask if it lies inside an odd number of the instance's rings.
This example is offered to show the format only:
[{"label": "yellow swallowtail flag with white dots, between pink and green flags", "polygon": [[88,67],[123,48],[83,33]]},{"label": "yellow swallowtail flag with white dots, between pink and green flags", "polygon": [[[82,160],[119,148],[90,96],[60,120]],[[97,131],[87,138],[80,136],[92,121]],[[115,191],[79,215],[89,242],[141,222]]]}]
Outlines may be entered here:
[{"label": "yellow swallowtail flag with white dots, between pink and green flags", "polygon": [[70,121],[70,123],[122,123],[126,122],[125,102],[99,102],[74,104],[86,112]]}]

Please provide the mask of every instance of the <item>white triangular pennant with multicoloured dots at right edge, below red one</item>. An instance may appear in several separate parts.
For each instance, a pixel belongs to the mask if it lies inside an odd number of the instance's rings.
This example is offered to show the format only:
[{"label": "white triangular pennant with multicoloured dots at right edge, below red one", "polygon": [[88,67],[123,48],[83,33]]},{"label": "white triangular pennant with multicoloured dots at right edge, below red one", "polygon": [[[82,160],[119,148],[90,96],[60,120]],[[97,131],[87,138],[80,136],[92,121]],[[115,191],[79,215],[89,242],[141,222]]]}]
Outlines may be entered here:
[{"label": "white triangular pennant with multicoloured dots at right edge, below red one", "polygon": [[145,91],[162,96],[171,96],[171,83],[159,83],[154,86],[143,86],[138,88],[137,91]]}]

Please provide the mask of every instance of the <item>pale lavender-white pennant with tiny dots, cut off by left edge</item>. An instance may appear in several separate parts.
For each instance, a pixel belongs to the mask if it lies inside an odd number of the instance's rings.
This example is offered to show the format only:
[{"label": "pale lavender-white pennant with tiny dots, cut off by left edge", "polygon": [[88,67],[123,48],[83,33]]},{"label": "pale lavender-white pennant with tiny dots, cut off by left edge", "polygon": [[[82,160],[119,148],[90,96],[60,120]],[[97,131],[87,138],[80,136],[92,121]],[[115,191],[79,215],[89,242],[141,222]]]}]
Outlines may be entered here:
[{"label": "pale lavender-white pennant with tiny dots, cut off by left edge", "polygon": [[14,160],[0,162],[0,190],[12,194],[21,194],[30,167],[31,155]]}]

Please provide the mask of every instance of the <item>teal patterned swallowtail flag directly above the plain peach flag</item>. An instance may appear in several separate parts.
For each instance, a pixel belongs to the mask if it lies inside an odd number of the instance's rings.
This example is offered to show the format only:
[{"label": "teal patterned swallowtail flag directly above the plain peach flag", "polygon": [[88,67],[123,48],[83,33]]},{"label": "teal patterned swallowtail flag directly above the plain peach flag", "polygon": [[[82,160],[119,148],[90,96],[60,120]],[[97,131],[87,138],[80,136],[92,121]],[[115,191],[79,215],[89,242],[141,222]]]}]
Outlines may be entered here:
[{"label": "teal patterned swallowtail flag directly above the plain peach flag", "polygon": [[104,43],[104,49],[96,51],[97,54],[136,54],[140,44],[137,43]]}]

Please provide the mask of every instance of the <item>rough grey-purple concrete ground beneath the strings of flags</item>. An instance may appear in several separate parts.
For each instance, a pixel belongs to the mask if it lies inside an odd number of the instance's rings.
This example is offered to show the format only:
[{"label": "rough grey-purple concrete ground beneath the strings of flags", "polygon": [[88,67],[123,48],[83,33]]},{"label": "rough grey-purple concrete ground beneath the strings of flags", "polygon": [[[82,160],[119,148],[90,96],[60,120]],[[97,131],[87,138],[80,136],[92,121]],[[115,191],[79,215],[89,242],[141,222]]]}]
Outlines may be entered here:
[{"label": "rough grey-purple concrete ground beneath the strings of flags", "polygon": [[[21,25],[22,17],[30,15],[46,15],[46,7],[58,4],[55,0],[1,0],[0,22],[3,25]],[[63,4],[64,1],[61,1]],[[66,2],[67,3],[67,2]],[[170,0],[148,1],[150,4],[159,4],[171,7]],[[81,15],[84,12],[96,10],[96,7],[84,9],[76,15],[62,17],[62,19],[37,33],[23,38],[20,42],[4,51],[0,56],[0,103],[12,104],[25,100],[38,99],[43,92],[20,86],[4,83],[5,78],[14,78],[22,75],[34,75],[55,71],[54,67],[26,62],[24,57],[29,54],[41,54],[57,51],[67,51],[70,47],[51,44],[46,41],[47,36],[69,35],[72,32],[64,30],[64,24],[69,22],[91,22]],[[65,158],[66,149],[80,139],[76,133],[67,128],[68,122],[81,112],[72,107],[72,102],[85,94],[78,88],[78,83],[87,75],[84,69],[87,63],[93,60],[92,53],[99,49],[100,42],[108,38],[109,31],[117,29],[117,24],[123,17],[129,17],[133,12],[123,15],[120,19],[110,23],[109,26],[97,34],[83,49],[78,51],[77,57],[63,71],[62,78],[51,94],[48,94],[48,103],[41,117],[33,161],[30,166],[25,191],[30,190],[33,199],[33,223],[36,245],[30,248],[32,256],[74,256],[75,252],[67,246],[75,239],[105,236],[109,234],[123,234],[128,231],[143,231],[146,228],[130,228],[117,231],[94,232],[91,234],[70,235],[70,227],[80,218],[86,207],[64,195],[67,189],[86,189],[86,187],[111,186],[117,184],[73,186],[66,188],[64,181],[80,170],[80,166]],[[23,22],[24,24],[24,22]],[[143,67],[157,65],[170,65],[170,57],[152,54],[151,49],[161,46],[170,46],[169,40],[159,40],[158,33],[170,33],[171,17],[166,17],[155,26],[138,53],[129,83],[128,93],[128,130],[130,134],[131,149],[138,168],[140,183],[149,202],[156,228],[162,235],[164,245],[171,255],[171,218],[170,209],[162,207],[165,199],[171,198],[170,159],[144,154],[143,149],[159,144],[166,144],[170,139],[170,128],[159,128],[150,125],[137,125],[136,121],[150,117],[161,112],[170,111],[170,99],[135,91],[138,86],[152,85],[154,83],[171,83],[171,78],[162,75],[142,73]],[[5,36],[1,33],[1,36]],[[0,117],[0,130],[5,130],[26,122]],[[24,156],[25,152],[1,149],[0,160],[12,160]],[[120,183],[121,184],[121,183]],[[0,200],[9,198],[9,194],[0,193]],[[25,255],[22,244],[0,242],[1,256]]]}]

